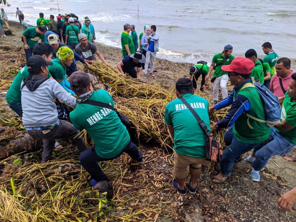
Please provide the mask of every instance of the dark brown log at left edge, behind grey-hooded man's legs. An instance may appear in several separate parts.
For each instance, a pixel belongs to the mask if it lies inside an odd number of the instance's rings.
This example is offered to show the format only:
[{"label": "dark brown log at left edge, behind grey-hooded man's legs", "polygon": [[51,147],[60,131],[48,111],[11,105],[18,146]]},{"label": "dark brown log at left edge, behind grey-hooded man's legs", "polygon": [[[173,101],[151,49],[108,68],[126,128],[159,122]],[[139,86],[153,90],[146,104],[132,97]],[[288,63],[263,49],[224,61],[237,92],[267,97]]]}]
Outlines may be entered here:
[{"label": "dark brown log at left edge, behind grey-hooded man's legs", "polygon": [[35,140],[26,134],[24,137],[12,140],[6,145],[0,145],[0,159],[23,151],[34,152],[39,150],[42,146],[42,140]]}]

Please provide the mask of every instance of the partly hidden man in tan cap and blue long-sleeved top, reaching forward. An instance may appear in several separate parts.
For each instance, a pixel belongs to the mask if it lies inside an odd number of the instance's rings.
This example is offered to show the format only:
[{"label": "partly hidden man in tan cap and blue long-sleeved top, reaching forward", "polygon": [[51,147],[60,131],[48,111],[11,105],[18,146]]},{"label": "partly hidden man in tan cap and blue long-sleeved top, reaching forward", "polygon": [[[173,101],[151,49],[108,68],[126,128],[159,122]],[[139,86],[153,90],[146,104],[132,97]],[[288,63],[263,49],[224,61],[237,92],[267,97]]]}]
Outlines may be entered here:
[{"label": "partly hidden man in tan cap and blue long-sleeved top, reaching forward", "polygon": [[[60,40],[54,34],[48,35],[47,40],[48,40],[48,43],[50,44],[50,46],[54,48],[55,52],[57,52],[59,50],[59,48],[62,46],[66,46],[66,47],[70,48],[68,45],[60,43]],[[55,53],[53,53],[52,58],[53,59],[56,58]],[[88,64],[88,60],[85,60],[84,58],[82,58],[75,51],[74,51],[74,58],[75,58],[75,60],[79,60],[81,63],[84,63],[88,68],[91,68],[91,66]],[[73,72],[77,71],[75,60],[73,60],[72,64],[69,67],[67,67],[67,71],[66,71],[67,76],[70,76]]]}]

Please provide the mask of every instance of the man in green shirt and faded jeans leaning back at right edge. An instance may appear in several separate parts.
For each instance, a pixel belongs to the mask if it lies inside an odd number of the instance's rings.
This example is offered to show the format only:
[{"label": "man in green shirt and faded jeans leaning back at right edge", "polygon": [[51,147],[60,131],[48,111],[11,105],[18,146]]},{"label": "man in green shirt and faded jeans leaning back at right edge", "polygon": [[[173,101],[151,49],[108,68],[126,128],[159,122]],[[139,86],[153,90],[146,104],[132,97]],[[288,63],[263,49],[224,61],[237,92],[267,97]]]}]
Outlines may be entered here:
[{"label": "man in green shirt and faded jeans leaning back at right edge", "polygon": [[[281,122],[270,128],[268,143],[245,158],[245,161],[253,163],[253,181],[260,181],[259,171],[265,167],[269,158],[287,154],[296,146],[296,73],[292,74],[288,92],[279,98],[279,102],[282,103]],[[291,159],[296,161],[293,156]]]}]

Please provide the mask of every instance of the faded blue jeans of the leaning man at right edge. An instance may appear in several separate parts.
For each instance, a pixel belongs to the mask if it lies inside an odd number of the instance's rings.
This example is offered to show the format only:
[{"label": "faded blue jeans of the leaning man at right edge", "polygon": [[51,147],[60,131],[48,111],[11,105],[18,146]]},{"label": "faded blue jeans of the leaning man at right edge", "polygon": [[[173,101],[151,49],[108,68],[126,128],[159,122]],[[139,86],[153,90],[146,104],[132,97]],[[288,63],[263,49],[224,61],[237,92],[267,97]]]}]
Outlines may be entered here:
[{"label": "faded blue jeans of the leaning man at right edge", "polygon": [[268,143],[261,149],[253,152],[256,157],[253,162],[253,168],[256,171],[261,171],[270,157],[289,153],[295,146],[294,143],[282,137],[274,127],[270,127],[270,131],[271,133],[267,139]]}]

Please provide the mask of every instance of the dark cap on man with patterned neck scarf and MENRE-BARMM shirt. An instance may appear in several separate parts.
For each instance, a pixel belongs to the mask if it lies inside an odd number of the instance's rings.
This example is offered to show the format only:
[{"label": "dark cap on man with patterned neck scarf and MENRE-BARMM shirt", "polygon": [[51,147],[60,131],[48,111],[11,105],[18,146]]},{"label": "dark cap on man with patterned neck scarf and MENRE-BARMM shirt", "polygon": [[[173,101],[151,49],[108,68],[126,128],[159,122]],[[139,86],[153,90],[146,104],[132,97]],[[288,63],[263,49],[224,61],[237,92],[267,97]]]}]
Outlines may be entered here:
[{"label": "dark cap on man with patterned neck scarf and MENRE-BARMM shirt", "polygon": [[83,71],[73,72],[69,78],[69,83],[73,91],[80,91],[86,88],[95,77]]}]

